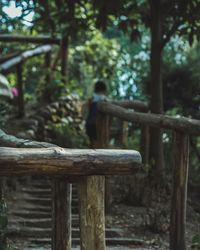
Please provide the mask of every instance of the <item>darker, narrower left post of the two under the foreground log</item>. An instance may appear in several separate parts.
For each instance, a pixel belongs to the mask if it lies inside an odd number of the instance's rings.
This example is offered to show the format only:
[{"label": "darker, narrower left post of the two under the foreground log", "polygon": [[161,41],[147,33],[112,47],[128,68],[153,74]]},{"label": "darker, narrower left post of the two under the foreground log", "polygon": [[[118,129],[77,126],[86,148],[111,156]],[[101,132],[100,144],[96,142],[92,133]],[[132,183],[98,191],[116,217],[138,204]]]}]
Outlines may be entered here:
[{"label": "darker, narrower left post of the two under the foreground log", "polygon": [[71,250],[71,184],[63,179],[52,182],[52,250]]}]

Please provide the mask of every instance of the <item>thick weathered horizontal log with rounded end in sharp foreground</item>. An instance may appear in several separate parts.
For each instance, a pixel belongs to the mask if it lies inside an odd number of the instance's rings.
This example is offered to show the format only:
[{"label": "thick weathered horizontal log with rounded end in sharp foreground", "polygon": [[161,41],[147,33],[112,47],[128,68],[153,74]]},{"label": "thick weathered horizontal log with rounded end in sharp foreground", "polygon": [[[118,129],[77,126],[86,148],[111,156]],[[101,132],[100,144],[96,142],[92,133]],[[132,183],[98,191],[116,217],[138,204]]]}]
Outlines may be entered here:
[{"label": "thick weathered horizontal log with rounded end in sharp foreground", "polygon": [[0,175],[126,175],[140,169],[133,150],[0,148]]}]

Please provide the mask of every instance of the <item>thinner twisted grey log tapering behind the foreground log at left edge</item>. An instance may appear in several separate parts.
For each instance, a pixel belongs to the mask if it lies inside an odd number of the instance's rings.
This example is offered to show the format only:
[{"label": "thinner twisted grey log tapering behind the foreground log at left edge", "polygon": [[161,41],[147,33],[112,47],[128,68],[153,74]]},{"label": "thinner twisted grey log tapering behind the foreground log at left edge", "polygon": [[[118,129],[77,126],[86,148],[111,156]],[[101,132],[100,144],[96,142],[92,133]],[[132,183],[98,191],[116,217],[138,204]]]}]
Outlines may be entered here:
[{"label": "thinner twisted grey log tapering behind the foreground log at left edge", "polygon": [[12,148],[49,148],[55,147],[56,145],[48,142],[38,142],[29,139],[20,139],[13,135],[6,134],[0,129],[0,149],[1,147],[12,147]]}]

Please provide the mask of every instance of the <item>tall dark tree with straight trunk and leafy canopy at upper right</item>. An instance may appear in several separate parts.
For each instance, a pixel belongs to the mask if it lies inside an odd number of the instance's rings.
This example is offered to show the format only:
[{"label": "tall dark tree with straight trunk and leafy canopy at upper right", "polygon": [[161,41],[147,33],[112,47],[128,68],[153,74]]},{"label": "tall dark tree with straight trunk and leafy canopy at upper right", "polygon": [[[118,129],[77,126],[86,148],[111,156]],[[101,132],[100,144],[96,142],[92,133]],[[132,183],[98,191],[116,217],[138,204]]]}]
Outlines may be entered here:
[{"label": "tall dark tree with straight trunk and leafy canopy at upper right", "polygon": [[[163,112],[162,57],[166,44],[174,34],[185,36],[192,44],[200,37],[199,0],[93,0],[98,9],[97,24],[105,28],[117,17],[119,28],[131,39],[138,38],[143,24],[150,29],[150,109],[152,113]],[[114,21],[116,23],[116,19]],[[153,174],[161,180],[164,174],[162,131],[151,129],[150,164]]]}]

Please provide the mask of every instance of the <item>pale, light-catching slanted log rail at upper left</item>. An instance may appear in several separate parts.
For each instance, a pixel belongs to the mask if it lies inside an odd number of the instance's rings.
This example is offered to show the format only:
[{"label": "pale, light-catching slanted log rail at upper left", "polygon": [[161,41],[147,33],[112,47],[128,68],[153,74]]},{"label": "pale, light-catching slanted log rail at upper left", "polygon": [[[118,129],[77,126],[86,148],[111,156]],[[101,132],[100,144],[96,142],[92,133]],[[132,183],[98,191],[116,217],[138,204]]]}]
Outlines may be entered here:
[{"label": "pale, light-catching slanted log rail at upper left", "polygon": [[20,55],[14,57],[14,58],[11,58],[10,60],[0,64],[0,71],[6,71],[6,70],[12,68],[13,66],[25,61],[28,58],[31,58],[33,56],[37,56],[37,55],[40,55],[43,53],[47,53],[51,49],[52,49],[51,45],[43,45],[43,46],[39,46],[35,49],[24,51]]}]

